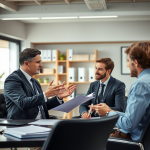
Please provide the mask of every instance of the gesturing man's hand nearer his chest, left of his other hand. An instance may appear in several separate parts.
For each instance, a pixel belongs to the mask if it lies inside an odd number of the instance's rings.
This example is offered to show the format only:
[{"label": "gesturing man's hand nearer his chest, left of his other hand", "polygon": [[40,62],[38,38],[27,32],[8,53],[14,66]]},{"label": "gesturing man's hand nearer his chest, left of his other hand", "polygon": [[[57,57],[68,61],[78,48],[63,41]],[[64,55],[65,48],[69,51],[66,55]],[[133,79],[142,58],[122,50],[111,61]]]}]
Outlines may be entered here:
[{"label": "gesturing man's hand nearer his chest, left of his other hand", "polygon": [[48,85],[46,91],[45,91],[45,96],[48,97],[52,97],[58,94],[62,93],[62,90],[64,90],[65,88],[63,87],[63,85],[57,85],[57,86],[52,86],[54,80],[52,80],[50,82],[50,84]]}]

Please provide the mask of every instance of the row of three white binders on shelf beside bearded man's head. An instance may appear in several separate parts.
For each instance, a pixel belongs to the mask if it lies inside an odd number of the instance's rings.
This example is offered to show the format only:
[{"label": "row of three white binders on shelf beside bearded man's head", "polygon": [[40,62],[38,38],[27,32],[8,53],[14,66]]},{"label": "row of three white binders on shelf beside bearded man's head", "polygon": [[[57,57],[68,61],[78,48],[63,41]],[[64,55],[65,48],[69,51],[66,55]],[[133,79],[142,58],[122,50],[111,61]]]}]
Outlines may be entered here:
[{"label": "row of three white binders on shelf beside bearded man's head", "polygon": [[[78,82],[95,81],[95,68],[89,68],[89,76],[87,78],[86,68],[78,68]],[[69,68],[69,82],[77,81],[77,69],[74,67]]]}]

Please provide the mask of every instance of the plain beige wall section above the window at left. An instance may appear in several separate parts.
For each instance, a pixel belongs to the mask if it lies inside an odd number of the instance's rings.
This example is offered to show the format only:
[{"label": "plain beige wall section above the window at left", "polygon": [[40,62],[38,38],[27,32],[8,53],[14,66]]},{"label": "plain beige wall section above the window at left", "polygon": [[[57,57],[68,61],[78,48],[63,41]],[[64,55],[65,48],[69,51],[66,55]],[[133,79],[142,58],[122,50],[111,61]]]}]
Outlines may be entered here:
[{"label": "plain beige wall section above the window at left", "polygon": [[26,24],[20,21],[0,20],[0,35],[25,40]]}]

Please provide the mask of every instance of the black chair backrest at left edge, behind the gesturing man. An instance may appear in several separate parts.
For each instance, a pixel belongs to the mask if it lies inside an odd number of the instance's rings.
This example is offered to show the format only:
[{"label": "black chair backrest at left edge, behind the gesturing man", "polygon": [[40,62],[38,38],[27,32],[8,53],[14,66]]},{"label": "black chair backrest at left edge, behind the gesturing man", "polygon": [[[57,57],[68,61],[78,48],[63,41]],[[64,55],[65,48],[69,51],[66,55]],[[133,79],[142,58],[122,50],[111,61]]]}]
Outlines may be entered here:
[{"label": "black chair backrest at left edge, behind the gesturing man", "polygon": [[0,118],[7,118],[7,109],[4,94],[0,94]]}]

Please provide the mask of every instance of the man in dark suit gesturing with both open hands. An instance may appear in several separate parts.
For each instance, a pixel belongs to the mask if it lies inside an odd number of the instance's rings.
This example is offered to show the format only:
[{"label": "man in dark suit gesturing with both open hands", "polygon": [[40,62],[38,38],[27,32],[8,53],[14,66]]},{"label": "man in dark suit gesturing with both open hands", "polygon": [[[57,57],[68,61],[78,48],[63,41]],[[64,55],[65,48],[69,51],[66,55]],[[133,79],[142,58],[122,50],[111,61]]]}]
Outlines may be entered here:
[{"label": "man in dark suit gesturing with both open hands", "polygon": [[19,54],[20,69],[5,80],[8,119],[48,119],[48,110],[61,105],[63,98],[72,94],[76,88],[74,85],[65,88],[64,83],[54,87],[52,81],[47,90],[42,92],[40,84],[33,78],[42,67],[40,54],[39,50],[31,48],[22,51]]}]

